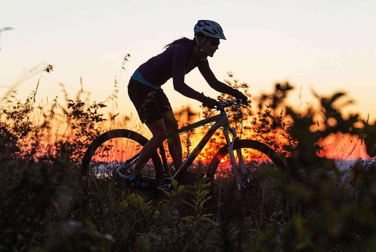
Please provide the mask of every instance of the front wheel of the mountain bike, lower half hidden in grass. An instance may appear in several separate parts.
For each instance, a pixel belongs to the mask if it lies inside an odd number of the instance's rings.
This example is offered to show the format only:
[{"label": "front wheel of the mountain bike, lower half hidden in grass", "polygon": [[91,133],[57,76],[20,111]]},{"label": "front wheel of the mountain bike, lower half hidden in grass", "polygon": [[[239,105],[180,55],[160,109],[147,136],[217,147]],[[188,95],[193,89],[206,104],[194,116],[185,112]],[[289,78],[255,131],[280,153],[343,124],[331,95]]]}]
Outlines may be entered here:
[{"label": "front wheel of the mountain bike, lower half hidden in grass", "polygon": [[[232,173],[232,165],[226,146],[222,147],[211,160],[206,178],[212,181],[217,205],[220,209],[241,206],[250,215],[271,217],[284,208],[282,181],[287,171],[282,158],[269,146],[255,140],[237,140],[233,144],[241,150],[248,173],[248,183],[238,190]],[[255,217],[256,217],[255,216]]]}]

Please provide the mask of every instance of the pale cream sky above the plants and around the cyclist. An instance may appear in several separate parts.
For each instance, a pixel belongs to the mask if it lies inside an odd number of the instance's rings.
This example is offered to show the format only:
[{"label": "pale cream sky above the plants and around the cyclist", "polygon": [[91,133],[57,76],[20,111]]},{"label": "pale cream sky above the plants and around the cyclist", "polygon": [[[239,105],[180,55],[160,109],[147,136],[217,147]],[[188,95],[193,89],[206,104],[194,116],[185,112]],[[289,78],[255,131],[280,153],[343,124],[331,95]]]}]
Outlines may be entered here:
[{"label": "pale cream sky above the plants and around the cyclist", "polygon": [[[133,111],[127,84],[135,69],[182,36],[193,37],[199,19],[221,24],[226,41],[209,64],[217,79],[227,72],[250,85],[258,96],[276,82],[302,88],[303,102],[311,88],[319,94],[347,91],[357,101],[350,111],[376,119],[376,1],[2,1],[0,29],[1,96],[25,71],[51,64],[42,77],[37,99],[62,96],[59,82],[71,97],[83,88],[93,100],[113,90],[121,61],[119,111]],[[185,3],[185,5],[182,5]],[[18,88],[24,99],[39,76]],[[185,76],[195,90],[215,97],[197,69]],[[162,86],[173,109],[199,102]],[[297,92],[291,103],[299,105]]]}]

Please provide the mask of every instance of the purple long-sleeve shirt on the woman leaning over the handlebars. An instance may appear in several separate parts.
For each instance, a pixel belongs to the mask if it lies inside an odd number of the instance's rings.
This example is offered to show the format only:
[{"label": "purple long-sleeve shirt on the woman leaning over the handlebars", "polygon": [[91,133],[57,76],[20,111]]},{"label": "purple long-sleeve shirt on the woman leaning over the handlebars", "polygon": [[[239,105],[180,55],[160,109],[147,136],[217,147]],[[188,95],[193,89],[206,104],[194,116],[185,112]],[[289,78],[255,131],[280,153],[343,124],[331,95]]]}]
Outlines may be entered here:
[{"label": "purple long-sleeve shirt on the woman leaning over the handlebars", "polygon": [[214,90],[235,96],[238,90],[231,88],[223,82],[217,80],[209,67],[206,58],[197,60],[193,67],[185,69],[190,57],[193,55],[194,44],[177,43],[161,54],[149,59],[140,65],[138,71],[142,76],[153,85],[160,87],[171,77],[173,79],[174,89],[183,96],[202,101],[204,95],[189,87],[184,82],[184,75],[189,73],[195,67],[198,67],[200,73]]}]

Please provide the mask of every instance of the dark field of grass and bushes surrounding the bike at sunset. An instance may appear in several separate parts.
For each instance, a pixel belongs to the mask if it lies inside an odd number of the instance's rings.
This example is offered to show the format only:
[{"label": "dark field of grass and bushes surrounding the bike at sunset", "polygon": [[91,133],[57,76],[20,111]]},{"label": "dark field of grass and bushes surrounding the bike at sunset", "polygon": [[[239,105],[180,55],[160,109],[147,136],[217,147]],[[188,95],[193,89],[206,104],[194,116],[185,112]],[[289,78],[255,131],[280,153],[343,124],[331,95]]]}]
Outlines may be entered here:
[{"label": "dark field of grass and bushes surrounding the bike at sunset", "polygon": [[[248,89],[232,74],[227,83]],[[359,115],[344,117],[344,93],[316,95],[320,106],[303,112],[287,106],[292,89],[276,84],[273,93],[252,97],[243,108],[243,127],[237,128],[242,138],[276,150],[288,170],[259,169],[263,165],[256,162],[250,168],[261,189],[251,195],[235,190],[232,178],[218,176],[227,192],[221,199],[205,179],[151,195],[99,178],[103,186],[96,197],[87,194],[80,176],[85,149],[104,131],[129,127],[129,115],[101,112],[114,106],[117,83],[112,96],[99,103],[82,89],[73,99],[63,91],[65,104],[56,98],[45,105],[35,101],[38,85],[24,102],[10,91],[0,114],[0,250],[374,251],[374,160],[359,159],[342,173],[322,149],[324,138],[341,132],[357,137],[373,157],[376,124]],[[200,115],[209,113],[202,108]],[[231,123],[238,125],[240,118],[234,115]],[[185,154],[191,137],[182,136]],[[216,135],[205,158],[221,143]],[[198,162],[193,170],[205,169]]]}]

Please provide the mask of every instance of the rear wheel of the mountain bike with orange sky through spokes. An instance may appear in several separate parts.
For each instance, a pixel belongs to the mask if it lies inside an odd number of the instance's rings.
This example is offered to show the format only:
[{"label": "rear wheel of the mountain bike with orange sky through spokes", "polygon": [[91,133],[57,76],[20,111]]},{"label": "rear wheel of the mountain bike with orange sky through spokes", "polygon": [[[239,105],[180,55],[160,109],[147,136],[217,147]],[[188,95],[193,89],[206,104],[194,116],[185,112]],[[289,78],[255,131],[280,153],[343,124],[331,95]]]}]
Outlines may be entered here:
[{"label": "rear wheel of the mountain bike with orange sky through spokes", "polygon": [[[99,195],[108,187],[109,182],[115,185],[124,183],[124,179],[115,170],[124,163],[137,158],[147,138],[127,129],[114,129],[97,137],[86,149],[82,159],[81,176],[85,181],[86,191]],[[133,162],[134,163],[134,162]],[[132,172],[132,166],[126,165],[120,171],[123,175]],[[162,162],[157,152],[143,169],[143,177],[154,182],[162,175]]]}]

